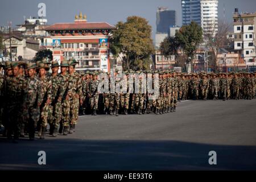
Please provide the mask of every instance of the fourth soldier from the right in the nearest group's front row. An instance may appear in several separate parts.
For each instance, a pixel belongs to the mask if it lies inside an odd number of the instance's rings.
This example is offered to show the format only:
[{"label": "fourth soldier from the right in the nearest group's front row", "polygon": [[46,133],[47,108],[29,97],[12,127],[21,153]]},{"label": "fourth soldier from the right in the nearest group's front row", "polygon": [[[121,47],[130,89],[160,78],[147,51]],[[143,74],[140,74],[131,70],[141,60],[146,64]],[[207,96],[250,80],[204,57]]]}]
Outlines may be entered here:
[{"label": "fourth soldier from the right in the nearest group's front row", "polygon": [[40,63],[37,70],[39,71],[39,81],[40,81],[40,94],[43,98],[42,103],[40,103],[40,118],[38,123],[38,135],[40,139],[44,139],[46,133],[46,128],[48,125],[49,115],[52,114],[51,102],[52,102],[52,81],[47,77],[47,71],[49,67],[47,64]]}]

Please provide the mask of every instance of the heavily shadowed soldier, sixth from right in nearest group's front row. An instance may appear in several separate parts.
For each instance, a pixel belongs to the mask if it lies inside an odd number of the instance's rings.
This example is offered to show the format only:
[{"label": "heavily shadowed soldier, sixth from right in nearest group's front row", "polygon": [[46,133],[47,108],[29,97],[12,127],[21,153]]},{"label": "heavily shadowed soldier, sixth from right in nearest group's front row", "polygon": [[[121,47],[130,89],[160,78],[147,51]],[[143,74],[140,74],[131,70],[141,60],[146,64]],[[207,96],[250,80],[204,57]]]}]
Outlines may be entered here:
[{"label": "heavily shadowed soldier, sixth from right in nearest group's front row", "polygon": [[11,139],[11,135],[14,133],[15,143],[23,124],[23,96],[27,88],[26,79],[20,75],[20,64],[19,61],[11,63],[13,77],[6,78],[6,92],[4,93],[7,99],[7,138]]}]

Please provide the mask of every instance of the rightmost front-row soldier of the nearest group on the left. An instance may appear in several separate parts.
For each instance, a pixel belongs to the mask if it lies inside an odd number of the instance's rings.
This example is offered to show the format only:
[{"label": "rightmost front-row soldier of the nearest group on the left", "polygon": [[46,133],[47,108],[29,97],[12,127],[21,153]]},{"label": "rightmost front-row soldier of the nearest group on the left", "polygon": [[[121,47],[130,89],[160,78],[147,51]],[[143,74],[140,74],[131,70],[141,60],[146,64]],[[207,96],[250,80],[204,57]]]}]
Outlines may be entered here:
[{"label": "rightmost front-row soldier of the nearest group on the left", "polygon": [[69,134],[72,134],[75,130],[79,116],[79,106],[82,105],[82,82],[80,74],[75,71],[75,65],[78,62],[75,60],[68,61],[69,72],[69,85],[68,85],[68,97],[69,97]]}]

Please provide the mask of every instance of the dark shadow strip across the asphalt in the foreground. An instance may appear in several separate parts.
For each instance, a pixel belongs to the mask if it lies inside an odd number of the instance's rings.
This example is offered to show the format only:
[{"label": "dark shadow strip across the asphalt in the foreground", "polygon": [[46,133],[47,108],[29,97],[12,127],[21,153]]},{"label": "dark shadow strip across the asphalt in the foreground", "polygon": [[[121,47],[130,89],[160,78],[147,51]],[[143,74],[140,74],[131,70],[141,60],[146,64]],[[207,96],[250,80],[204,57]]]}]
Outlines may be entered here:
[{"label": "dark shadow strip across the asphalt in the foreground", "polygon": [[[223,146],[172,140],[46,139],[18,144],[0,138],[0,169],[245,170],[256,169],[256,146]],[[46,151],[46,165],[38,151]],[[217,152],[217,165],[208,163]]]}]

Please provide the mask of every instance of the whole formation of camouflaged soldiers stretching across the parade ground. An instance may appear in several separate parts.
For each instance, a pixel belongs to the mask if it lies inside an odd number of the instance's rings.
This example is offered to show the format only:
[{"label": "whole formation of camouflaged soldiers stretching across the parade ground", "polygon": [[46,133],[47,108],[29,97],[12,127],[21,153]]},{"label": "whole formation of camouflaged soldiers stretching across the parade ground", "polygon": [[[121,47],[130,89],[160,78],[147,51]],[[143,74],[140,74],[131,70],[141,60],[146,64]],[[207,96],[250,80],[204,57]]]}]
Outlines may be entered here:
[{"label": "whole formation of camouflaged soldiers stretching across the parade ground", "polygon": [[[122,77],[114,72],[114,86],[122,80],[132,79],[123,92],[99,92],[101,71],[79,73],[75,60],[48,63],[6,61],[0,64],[0,124],[5,126],[4,135],[18,139],[28,134],[34,140],[35,131],[44,139],[47,126],[49,135],[67,135],[75,132],[79,115],[85,114],[150,114],[176,111],[180,100],[229,100],[255,98],[256,73],[176,73],[171,71],[125,71]],[[51,69],[51,72],[49,70]],[[60,69],[60,73],[59,73]],[[1,71],[3,72],[3,71]],[[135,74],[136,73],[136,74]],[[143,74],[142,74],[143,73]],[[111,83],[110,73],[105,73]],[[155,75],[158,74],[158,88]],[[139,75],[135,77],[135,75]],[[150,77],[152,89],[142,84],[143,76]],[[137,80],[138,79],[138,80]],[[101,78],[102,80],[102,78]],[[134,80],[137,80],[134,82]],[[105,85],[100,85],[104,89]],[[111,86],[109,85],[109,90]],[[130,90],[138,92],[130,92]],[[142,90],[146,92],[142,92]]]}]

